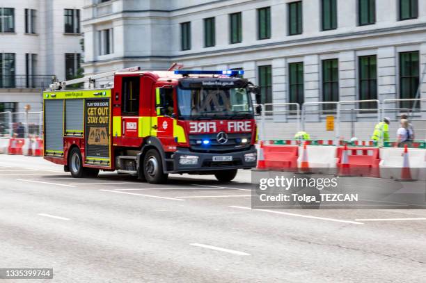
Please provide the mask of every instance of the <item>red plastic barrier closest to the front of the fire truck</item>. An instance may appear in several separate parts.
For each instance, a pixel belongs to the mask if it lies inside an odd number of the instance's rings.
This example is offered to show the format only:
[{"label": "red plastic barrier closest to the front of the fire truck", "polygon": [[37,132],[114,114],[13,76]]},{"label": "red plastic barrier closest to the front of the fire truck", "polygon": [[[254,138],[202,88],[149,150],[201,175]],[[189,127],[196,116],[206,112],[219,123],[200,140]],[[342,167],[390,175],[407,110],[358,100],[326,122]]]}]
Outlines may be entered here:
[{"label": "red plastic barrier closest to the front of the fire truck", "polygon": [[286,170],[297,168],[299,147],[292,145],[263,145],[262,167],[260,169]]}]

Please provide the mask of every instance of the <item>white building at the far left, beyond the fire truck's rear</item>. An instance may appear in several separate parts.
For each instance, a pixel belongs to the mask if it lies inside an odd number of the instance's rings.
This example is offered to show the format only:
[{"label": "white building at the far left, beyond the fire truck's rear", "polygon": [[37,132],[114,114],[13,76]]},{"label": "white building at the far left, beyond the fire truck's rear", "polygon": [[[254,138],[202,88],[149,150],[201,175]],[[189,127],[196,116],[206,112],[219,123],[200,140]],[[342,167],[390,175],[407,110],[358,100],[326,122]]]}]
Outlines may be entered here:
[{"label": "white building at the far left, beyond the fire truck's rear", "polygon": [[83,0],[0,0],[0,113],[42,111],[52,76],[78,74],[82,7]]}]

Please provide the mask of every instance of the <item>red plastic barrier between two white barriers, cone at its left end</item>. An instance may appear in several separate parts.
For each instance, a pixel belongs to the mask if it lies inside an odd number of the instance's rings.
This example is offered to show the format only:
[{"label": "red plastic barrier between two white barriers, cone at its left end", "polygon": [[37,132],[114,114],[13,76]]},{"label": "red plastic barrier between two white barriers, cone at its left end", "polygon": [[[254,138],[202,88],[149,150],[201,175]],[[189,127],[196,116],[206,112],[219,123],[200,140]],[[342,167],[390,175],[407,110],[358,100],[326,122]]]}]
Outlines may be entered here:
[{"label": "red plastic barrier between two white barriers, cone at its left end", "polygon": [[347,163],[342,162],[345,147],[337,149],[337,166],[345,172],[342,175],[362,176],[362,177],[380,177],[379,170],[379,149],[367,147],[347,147]]}]

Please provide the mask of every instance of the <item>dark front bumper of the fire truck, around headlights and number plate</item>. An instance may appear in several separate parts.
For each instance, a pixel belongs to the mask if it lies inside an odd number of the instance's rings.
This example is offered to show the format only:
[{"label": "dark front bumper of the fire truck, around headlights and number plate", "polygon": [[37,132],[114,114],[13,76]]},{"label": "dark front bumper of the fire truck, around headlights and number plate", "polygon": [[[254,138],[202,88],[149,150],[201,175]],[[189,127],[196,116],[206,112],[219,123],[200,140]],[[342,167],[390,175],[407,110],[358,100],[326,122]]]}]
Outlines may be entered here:
[{"label": "dark front bumper of the fire truck, around headlights and number plate", "polygon": [[[254,146],[242,152],[228,152],[228,153],[207,153],[207,152],[192,152],[188,148],[179,147],[178,151],[173,154],[171,162],[173,163],[173,170],[169,173],[183,173],[183,172],[196,172],[196,171],[216,171],[228,169],[250,169],[256,167],[257,159],[247,162],[245,159],[246,154],[256,154],[257,151]],[[198,156],[196,164],[181,164],[181,156]],[[214,156],[232,156],[232,161],[213,161]]]}]

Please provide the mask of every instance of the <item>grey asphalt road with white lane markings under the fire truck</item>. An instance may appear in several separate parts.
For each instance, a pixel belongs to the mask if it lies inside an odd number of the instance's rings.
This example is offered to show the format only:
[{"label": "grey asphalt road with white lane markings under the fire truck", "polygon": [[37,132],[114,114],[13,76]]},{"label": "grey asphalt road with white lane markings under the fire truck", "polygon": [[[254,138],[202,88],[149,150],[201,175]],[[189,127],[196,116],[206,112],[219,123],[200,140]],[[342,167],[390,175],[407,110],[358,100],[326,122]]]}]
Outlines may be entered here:
[{"label": "grey asphalt road with white lane markings under the fire truck", "polygon": [[426,282],[424,210],[255,211],[248,171],[152,185],[61,169],[0,155],[0,268],[53,268],[45,282]]}]

